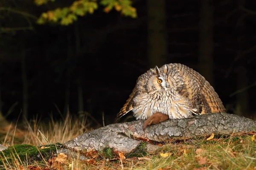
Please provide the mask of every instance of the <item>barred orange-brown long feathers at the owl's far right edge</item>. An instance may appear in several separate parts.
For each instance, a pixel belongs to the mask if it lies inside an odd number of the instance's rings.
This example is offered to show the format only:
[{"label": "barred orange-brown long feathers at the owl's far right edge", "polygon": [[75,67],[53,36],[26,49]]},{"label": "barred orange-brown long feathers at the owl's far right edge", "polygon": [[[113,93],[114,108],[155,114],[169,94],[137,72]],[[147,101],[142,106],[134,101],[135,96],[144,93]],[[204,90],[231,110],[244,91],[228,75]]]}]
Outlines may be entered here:
[{"label": "barred orange-brown long feathers at the owl's far right edge", "polygon": [[226,112],[224,105],[222,104],[221,99],[218,94],[214,91],[213,87],[209,84],[208,81],[205,82],[202,93],[207,100],[212,113],[216,112]]}]

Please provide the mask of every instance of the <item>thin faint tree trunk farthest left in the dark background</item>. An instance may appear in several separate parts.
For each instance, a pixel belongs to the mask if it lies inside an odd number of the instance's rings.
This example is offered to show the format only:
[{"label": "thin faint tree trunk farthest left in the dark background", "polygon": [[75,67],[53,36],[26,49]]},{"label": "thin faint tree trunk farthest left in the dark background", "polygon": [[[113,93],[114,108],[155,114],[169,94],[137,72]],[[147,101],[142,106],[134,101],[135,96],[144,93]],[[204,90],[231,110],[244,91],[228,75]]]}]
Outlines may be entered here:
[{"label": "thin faint tree trunk farthest left in the dark background", "polygon": [[28,99],[29,99],[29,91],[28,91],[28,80],[26,75],[26,48],[24,47],[21,52],[21,76],[22,76],[22,118],[23,121],[28,118]]}]

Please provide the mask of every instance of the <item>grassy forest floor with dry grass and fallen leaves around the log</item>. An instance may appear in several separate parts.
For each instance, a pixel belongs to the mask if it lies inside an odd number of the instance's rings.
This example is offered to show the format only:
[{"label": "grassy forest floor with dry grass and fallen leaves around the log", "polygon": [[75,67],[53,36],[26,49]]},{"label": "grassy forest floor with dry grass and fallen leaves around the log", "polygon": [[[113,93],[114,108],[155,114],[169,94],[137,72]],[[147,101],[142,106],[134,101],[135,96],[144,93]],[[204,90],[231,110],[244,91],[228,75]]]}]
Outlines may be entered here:
[{"label": "grassy forest floor with dry grass and fallen leaves around the log", "polygon": [[[64,143],[92,130],[91,125],[85,123],[91,122],[88,119],[88,115],[78,119],[68,114],[58,122],[50,119],[42,123],[35,119],[23,127],[11,125],[1,129],[1,144],[9,147]],[[151,154],[125,156],[119,153],[112,158],[96,155],[86,161],[69,158],[63,153],[42,161],[29,161],[29,158],[21,161],[15,154],[0,157],[0,169],[7,170],[255,170],[256,139],[254,133],[246,136],[212,134],[209,138],[169,142]]]}]

